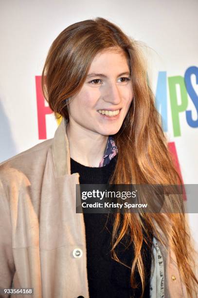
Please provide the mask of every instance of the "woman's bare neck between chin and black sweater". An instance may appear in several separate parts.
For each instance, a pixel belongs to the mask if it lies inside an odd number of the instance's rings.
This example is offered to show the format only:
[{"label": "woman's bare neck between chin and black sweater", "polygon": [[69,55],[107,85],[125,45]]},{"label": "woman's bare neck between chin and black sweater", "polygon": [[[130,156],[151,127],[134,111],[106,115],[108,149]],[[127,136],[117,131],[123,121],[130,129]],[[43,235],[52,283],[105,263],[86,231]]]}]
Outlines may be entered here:
[{"label": "woman's bare neck between chin and black sweater", "polygon": [[67,124],[66,133],[70,157],[81,165],[98,167],[105,153],[108,136],[87,130],[73,121]]}]

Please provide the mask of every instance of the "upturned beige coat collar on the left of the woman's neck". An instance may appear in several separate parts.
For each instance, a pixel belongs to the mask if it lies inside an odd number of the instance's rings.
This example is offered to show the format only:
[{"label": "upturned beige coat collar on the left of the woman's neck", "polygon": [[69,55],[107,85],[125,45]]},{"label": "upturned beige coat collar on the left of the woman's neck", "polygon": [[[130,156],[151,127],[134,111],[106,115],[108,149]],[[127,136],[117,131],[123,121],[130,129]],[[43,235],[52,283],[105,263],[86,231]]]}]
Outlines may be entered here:
[{"label": "upturned beige coat collar on the left of the woman's neck", "polygon": [[55,131],[52,142],[52,155],[55,177],[61,177],[67,174],[71,174],[70,149],[66,133],[67,124],[68,120],[62,118],[61,123]]}]

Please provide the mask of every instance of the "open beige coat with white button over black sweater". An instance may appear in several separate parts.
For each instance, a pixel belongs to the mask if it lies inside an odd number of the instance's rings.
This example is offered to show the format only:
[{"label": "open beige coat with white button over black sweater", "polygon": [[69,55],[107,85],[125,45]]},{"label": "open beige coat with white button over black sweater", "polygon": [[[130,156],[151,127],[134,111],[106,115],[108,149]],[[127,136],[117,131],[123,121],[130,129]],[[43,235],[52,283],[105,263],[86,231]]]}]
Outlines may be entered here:
[{"label": "open beige coat with white button over black sweater", "polygon": [[[13,280],[15,288],[34,288],[35,298],[89,298],[85,225],[83,214],[75,213],[79,174],[71,174],[66,125],[62,121],[53,139],[0,164],[0,287]],[[177,264],[158,246],[165,298],[187,297]],[[152,298],[159,298],[157,257],[154,264]]]}]

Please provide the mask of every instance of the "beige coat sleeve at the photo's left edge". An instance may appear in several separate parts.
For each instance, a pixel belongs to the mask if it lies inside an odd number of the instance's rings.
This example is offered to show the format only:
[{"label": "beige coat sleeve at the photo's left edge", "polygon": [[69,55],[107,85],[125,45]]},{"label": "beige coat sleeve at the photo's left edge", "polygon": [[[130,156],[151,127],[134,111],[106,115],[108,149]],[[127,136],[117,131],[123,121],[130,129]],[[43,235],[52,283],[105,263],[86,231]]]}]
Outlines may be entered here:
[{"label": "beige coat sleeve at the photo's left edge", "polygon": [[[15,273],[15,264],[12,253],[12,226],[10,209],[0,180],[0,288],[10,288]],[[0,293],[0,298],[8,296]]]}]

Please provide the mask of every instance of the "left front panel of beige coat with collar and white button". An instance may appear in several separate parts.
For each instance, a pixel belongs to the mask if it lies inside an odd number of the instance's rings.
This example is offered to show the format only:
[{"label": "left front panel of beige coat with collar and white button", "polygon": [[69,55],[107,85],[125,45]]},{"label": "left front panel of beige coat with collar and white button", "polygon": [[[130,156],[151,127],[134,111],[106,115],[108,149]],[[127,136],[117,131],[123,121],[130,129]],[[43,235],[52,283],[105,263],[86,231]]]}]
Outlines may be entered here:
[{"label": "left front panel of beige coat with collar and white button", "polygon": [[[76,213],[75,200],[79,173],[71,174],[66,125],[63,119],[55,131],[43,174],[39,221],[43,297],[88,298],[84,216]],[[73,256],[76,248],[83,252],[79,259]]]}]

